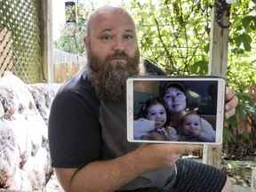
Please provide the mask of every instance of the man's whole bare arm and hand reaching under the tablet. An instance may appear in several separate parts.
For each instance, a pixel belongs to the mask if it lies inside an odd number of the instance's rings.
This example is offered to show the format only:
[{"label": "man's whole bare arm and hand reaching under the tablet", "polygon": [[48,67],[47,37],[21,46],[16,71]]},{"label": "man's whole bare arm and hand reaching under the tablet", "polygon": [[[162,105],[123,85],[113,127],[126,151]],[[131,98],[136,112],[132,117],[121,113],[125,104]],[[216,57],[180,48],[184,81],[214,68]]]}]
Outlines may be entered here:
[{"label": "man's whole bare arm and hand reaching under the tablet", "polygon": [[142,172],[171,166],[180,157],[199,147],[180,145],[149,144],[131,153],[108,161],[95,161],[82,169],[56,168],[61,186],[67,192],[115,191]]}]

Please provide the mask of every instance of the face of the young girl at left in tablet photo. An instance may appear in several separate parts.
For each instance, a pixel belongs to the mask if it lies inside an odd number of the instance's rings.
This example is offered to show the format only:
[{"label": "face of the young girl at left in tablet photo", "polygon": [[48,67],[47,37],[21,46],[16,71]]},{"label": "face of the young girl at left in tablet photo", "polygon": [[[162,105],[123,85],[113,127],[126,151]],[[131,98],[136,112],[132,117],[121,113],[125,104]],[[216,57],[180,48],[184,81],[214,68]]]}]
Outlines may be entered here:
[{"label": "face of the young girl at left in tablet photo", "polygon": [[161,128],[166,122],[165,108],[161,104],[156,104],[148,108],[149,120],[155,121],[155,128]]}]

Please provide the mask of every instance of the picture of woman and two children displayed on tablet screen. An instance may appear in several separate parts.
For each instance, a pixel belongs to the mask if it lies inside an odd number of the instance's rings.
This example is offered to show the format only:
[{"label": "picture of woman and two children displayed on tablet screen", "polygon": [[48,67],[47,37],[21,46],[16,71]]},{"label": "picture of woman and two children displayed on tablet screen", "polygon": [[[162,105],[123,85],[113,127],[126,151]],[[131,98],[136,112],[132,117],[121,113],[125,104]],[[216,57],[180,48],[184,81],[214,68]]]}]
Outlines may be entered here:
[{"label": "picture of woman and two children displayed on tablet screen", "polygon": [[134,141],[216,142],[217,80],[137,80],[132,91]]}]

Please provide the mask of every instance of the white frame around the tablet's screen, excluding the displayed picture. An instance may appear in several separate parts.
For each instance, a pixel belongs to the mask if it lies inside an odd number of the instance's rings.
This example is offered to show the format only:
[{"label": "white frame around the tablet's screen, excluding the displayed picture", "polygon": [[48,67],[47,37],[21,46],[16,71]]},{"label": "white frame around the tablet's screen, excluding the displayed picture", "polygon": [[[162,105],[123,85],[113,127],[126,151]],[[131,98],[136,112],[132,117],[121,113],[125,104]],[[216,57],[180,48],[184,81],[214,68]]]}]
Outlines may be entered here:
[{"label": "white frame around the tablet's screen, excluding the displayed picture", "polygon": [[[133,83],[134,81],[217,81],[217,110],[216,110],[216,138],[215,142],[194,142],[194,141],[169,141],[169,140],[134,140],[133,137]],[[127,140],[130,142],[141,143],[180,143],[180,144],[199,144],[199,145],[220,145],[223,140],[224,125],[224,105],[225,105],[225,87],[224,78],[216,76],[188,76],[188,77],[162,77],[162,76],[140,76],[130,77],[126,82],[126,107],[127,107]]]}]

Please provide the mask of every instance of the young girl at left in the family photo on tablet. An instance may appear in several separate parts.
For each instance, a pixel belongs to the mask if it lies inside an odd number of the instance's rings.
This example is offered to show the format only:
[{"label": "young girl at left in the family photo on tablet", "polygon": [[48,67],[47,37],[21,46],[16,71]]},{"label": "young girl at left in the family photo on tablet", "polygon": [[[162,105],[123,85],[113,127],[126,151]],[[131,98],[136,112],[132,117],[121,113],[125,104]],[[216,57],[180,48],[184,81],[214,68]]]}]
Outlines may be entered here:
[{"label": "young girl at left in the family photo on tablet", "polygon": [[[140,119],[148,119],[154,122],[155,129],[149,131],[140,137],[141,140],[178,140],[177,132],[174,128],[168,126],[169,119],[166,114],[164,101],[159,98],[147,100],[140,108]],[[137,127],[134,126],[134,132]]]}]

